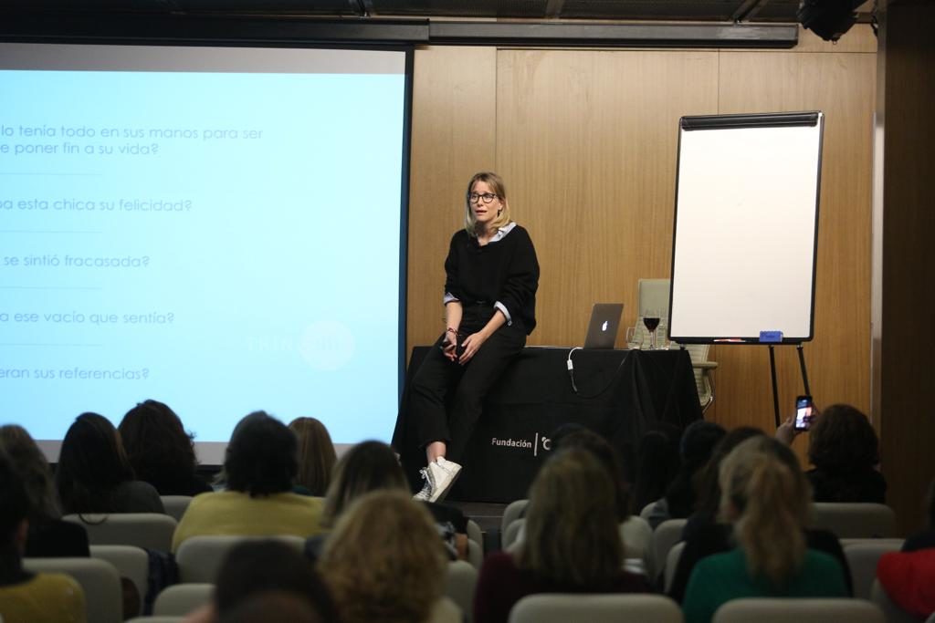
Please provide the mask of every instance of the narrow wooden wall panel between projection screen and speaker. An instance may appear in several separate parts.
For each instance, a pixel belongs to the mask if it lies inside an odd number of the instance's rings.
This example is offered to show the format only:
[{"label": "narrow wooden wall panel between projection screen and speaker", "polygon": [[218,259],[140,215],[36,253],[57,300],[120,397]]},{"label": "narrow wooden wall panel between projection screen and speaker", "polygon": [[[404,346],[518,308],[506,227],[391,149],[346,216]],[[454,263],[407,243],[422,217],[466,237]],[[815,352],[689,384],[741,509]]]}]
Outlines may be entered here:
[{"label": "narrow wooden wall panel between projection screen and speaker", "polygon": [[407,357],[444,331],[442,264],[464,191],[496,165],[496,50],[420,49],[413,69]]}]

